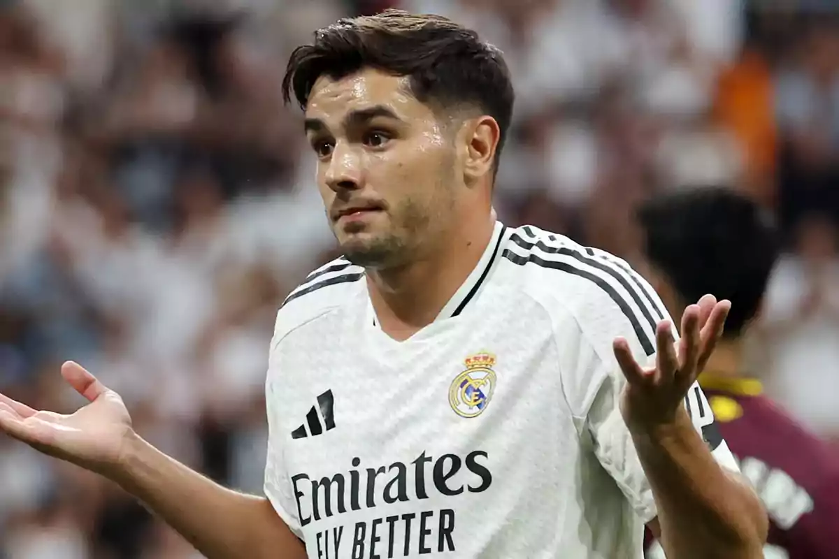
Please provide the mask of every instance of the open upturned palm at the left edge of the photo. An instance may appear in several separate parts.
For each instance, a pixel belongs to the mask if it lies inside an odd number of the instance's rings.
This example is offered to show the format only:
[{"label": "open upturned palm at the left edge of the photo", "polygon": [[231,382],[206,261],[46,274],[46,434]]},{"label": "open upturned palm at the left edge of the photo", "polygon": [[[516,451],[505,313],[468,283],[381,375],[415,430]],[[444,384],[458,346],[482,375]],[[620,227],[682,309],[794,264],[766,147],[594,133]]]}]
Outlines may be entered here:
[{"label": "open upturned palm at the left edge of the photo", "polygon": [[72,361],[61,375],[89,404],[70,415],[39,411],[0,394],[0,431],[44,454],[99,474],[116,468],[133,434],[122,398]]}]

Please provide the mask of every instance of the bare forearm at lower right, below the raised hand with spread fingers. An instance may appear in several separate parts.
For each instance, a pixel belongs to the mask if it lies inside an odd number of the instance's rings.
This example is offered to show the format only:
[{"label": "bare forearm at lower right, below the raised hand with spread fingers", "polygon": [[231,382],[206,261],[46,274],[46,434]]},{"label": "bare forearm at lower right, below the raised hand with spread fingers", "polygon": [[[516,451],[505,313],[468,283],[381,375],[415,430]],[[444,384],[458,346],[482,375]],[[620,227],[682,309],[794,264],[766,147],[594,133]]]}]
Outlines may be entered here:
[{"label": "bare forearm at lower right, below the raised hand with spread fingers", "polygon": [[667,556],[763,556],[768,520],[758,496],[711,456],[680,410],[675,424],[633,432],[653,488]]}]

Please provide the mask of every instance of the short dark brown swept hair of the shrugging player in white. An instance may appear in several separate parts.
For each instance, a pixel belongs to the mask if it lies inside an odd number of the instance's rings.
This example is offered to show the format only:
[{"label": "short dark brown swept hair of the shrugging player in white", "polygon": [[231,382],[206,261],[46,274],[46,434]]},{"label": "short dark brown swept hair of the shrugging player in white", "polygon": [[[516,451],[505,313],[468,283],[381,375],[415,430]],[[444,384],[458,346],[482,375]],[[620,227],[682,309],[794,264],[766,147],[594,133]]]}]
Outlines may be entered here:
[{"label": "short dark brown swept hair of the shrugging player in white", "polygon": [[433,108],[473,106],[498,122],[495,167],[513,115],[513,85],[501,51],[475,31],[438,15],[388,9],[344,18],[315,31],[313,44],[294,49],[283,79],[305,109],[320,75],[333,80],[362,68],[408,76],[413,96]]}]

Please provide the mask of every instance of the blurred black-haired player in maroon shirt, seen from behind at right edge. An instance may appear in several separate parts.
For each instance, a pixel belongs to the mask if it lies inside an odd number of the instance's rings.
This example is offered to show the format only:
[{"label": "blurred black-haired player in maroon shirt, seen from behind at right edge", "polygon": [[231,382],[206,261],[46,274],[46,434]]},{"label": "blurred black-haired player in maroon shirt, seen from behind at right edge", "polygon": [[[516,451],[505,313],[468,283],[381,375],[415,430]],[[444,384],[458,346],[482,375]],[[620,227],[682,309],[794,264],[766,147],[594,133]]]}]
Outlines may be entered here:
[{"label": "blurred black-haired player in maroon shirt, seen from behind at right edge", "polygon": [[[671,313],[705,292],[732,302],[699,382],[722,436],[769,512],[765,556],[836,557],[839,463],[825,443],[761,396],[760,381],[743,365],[743,332],[758,312],[775,261],[772,226],[756,204],[720,188],[652,199],[638,216],[650,268],[645,275]],[[656,543],[647,556],[658,559],[664,551]]]}]

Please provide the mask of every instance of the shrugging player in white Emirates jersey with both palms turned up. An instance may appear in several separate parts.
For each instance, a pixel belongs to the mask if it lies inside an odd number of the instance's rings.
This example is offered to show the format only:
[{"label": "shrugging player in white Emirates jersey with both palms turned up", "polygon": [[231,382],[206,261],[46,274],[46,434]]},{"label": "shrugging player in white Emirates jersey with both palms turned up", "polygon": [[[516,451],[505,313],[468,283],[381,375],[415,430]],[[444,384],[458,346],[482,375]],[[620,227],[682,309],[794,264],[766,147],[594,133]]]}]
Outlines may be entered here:
[{"label": "shrugging player in white Emirates jersey with both palms turned up", "polygon": [[[725,301],[675,333],[623,261],[492,219],[513,108],[497,49],[437,16],[344,19],[292,54],[317,184],[345,255],[279,310],[267,497],[143,442],[119,396],[0,427],[106,475],[214,557],[754,557],[766,518],[690,388]],[[690,399],[693,422],[684,405]]]}]

